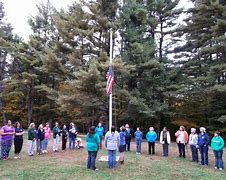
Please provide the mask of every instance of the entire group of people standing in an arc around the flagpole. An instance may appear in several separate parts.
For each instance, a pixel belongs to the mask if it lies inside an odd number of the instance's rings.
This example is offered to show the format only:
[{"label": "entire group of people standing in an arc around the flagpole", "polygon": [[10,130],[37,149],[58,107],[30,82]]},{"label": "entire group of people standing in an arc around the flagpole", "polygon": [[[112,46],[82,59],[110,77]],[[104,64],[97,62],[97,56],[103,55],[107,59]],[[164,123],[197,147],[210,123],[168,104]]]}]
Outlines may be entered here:
[{"label": "entire group of people standing in an arc around the flagpole", "polygon": [[[215,157],[215,168],[223,170],[223,138],[220,136],[220,133],[216,131],[210,141],[206,129],[200,127],[199,130],[200,132],[197,134],[196,129],[191,128],[191,133],[188,135],[184,126],[180,126],[179,130],[175,133],[179,157],[186,158],[185,146],[188,144],[190,145],[192,153],[192,161],[199,162],[198,152],[200,152],[200,164],[208,166],[208,149],[210,145]],[[105,130],[101,123],[99,123],[97,127],[92,126],[86,135],[86,147],[88,151],[87,168],[96,170],[95,161],[98,150],[102,149],[103,138],[104,145],[108,151],[108,167],[111,169],[116,166],[117,151],[119,151],[120,164],[124,164],[125,151],[130,151],[130,142],[133,135],[136,141],[136,154],[141,154],[141,144],[144,134],[140,131],[140,128],[137,128],[136,132],[133,133],[133,130],[126,124],[120,128],[120,132],[112,126],[105,135],[104,133]],[[12,122],[8,120],[7,124],[1,128],[1,158],[3,160],[8,159],[13,143],[15,147],[14,159],[20,159],[20,152],[23,146],[23,134],[24,130],[19,122],[16,122],[14,127]],[[45,126],[40,124],[37,129],[35,123],[31,123],[28,128],[28,155],[33,156],[35,152],[38,154],[48,153],[48,142],[51,135],[53,136],[53,152],[59,151],[60,137],[62,139],[62,151],[66,150],[67,139],[69,139],[69,149],[83,147],[81,140],[78,140],[79,138],[77,139],[77,134],[78,129],[74,123],[70,123],[68,128],[64,124],[59,128],[59,124],[56,122],[52,131],[49,123],[46,123]],[[148,142],[148,154],[155,154],[155,143],[158,139],[158,135],[153,127],[150,127],[149,131],[146,133],[146,139]],[[160,132],[159,139],[162,144],[163,156],[167,157],[169,155],[171,136],[166,127]]]}]

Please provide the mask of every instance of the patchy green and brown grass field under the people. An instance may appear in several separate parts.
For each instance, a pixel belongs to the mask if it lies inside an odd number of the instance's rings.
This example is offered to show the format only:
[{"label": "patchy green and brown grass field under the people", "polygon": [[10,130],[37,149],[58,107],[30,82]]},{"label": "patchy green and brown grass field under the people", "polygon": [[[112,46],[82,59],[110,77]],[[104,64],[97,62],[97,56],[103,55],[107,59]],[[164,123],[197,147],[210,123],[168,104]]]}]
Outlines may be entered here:
[{"label": "patchy green and brown grass field under the people", "polygon": [[[118,165],[115,171],[107,168],[107,163],[97,162],[99,171],[86,169],[86,150],[71,150],[65,152],[37,155],[28,157],[26,144],[22,150],[22,159],[13,160],[13,151],[8,161],[0,161],[0,179],[197,179],[197,180],[225,180],[226,172],[213,169],[213,154],[210,150],[209,168],[201,167],[187,159],[177,158],[175,145],[170,147],[170,157],[161,157],[161,146],[157,144],[154,156],[146,155],[147,144],[143,143],[141,156],[134,152],[126,153],[124,166]],[[51,145],[51,144],[50,144]],[[51,148],[51,146],[49,147]],[[132,150],[135,145],[132,143]],[[101,150],[98,157],[106,155]]]}]

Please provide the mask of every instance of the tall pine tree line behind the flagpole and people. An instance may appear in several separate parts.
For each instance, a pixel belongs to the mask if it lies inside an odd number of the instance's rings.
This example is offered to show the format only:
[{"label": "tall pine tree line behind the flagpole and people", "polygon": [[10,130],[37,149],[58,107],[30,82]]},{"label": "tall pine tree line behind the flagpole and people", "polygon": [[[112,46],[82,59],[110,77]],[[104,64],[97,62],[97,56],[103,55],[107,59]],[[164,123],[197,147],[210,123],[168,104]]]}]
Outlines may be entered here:
[{"label": "tall pine tree line behind the flagpole and people", "polygon": [[[114,32],[113,123],[226,131],[226,1],[75,1],[37,6],[25,42],[0,3],[1,121],[108,124],[105,92]],[[183,20],[180,20],[184,17]]]}]

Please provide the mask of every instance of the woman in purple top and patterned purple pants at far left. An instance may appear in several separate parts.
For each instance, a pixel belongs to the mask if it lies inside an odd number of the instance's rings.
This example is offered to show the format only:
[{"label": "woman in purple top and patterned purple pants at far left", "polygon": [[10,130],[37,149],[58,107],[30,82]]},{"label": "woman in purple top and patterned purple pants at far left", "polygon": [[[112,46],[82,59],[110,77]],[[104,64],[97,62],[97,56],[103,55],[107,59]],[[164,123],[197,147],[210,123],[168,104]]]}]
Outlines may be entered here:
[{"label": "woman in purple top and patterned purple pants at far left", "polygon": [[9,152],[13,142],[13,136],[15,134],[15,129],[12,126],[12,122],[10,120],[7,121],[7,124],[1,129],[2,136],[2,159],[7,160],[9,158]]}]

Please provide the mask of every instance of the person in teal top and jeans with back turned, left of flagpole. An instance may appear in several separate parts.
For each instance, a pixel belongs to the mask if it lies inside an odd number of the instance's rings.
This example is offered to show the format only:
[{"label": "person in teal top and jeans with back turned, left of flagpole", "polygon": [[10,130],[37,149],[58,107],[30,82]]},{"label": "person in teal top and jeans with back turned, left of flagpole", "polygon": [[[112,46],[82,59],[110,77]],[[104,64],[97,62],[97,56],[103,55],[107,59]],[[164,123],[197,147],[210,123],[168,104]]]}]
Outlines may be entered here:
[{"label": "person in teal top and jeans with back turned, left of flagpole", "polygon": [[95,133],[95,126],[92,126],[89,129],[88,134],[86,135],[88,159],[87,159],[87,168],[92,170],[96,169],[96,157],[99,149],[100,138],[97,133]]}]

